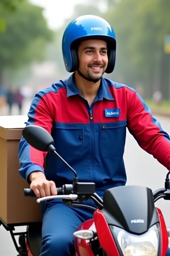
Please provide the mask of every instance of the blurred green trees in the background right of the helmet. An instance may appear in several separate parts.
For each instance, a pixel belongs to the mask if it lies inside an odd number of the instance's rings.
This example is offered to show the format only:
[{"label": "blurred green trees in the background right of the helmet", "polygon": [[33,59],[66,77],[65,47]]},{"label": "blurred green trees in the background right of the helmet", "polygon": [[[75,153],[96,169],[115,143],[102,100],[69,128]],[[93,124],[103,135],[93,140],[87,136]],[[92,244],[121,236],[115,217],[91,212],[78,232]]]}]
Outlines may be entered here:
[{"label": "blurred green trees in the background right of the helmet", "polygon": [[[122,77],[124,83],[133,87],[142,82],[147,96],[159,87],[161,76],[168,88],[168,56],[163,52],[163,44],[165,35],[170,33],[169,10],[169,0],[120,0],[104,15],[117,37],[116,68],[111,76]],[[163,90],[166,96],[167,89]]]}]

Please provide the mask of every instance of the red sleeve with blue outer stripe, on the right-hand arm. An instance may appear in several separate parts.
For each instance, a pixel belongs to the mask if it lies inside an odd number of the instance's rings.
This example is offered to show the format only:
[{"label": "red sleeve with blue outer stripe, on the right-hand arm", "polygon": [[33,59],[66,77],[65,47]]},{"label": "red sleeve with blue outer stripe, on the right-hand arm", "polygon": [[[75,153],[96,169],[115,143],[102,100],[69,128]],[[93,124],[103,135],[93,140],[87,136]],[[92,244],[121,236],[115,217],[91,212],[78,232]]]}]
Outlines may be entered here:
[{"label": "red sleeve with blue outer stripe, on the right-hand arm", "polygon": [[142,98],[134,91],[128,104],[128,130],[139,146],[170,170],[170,138],[152,116]]}]

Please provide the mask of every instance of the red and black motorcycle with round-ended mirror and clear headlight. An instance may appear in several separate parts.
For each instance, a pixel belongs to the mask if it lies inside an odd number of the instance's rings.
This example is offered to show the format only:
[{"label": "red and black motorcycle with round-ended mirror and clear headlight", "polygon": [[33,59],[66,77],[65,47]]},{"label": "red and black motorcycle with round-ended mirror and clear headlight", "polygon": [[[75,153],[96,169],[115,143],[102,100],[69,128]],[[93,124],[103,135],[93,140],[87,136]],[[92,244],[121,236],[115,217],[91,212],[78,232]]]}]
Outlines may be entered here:
[{"label": "red and black motorcycle with round-ended mirror and clear headlight", "polygon": [[[102,200],[95,192],[95,183],[78,181],[76,171],[56,152],[53,138],[45,129],[26,126],[23,137],[34,148],[59,157],[74,173],[73,184],[57,188],[56,196],[38,198],[37,203],[61,198],[69,206],[94,210],[93,219],[82,223],[73,233],[75,256],[166,255],[170,228],[166,228],[162,212],[154,203],[160,198],[170,200],[170,171],[165,188],[152,193],[150,188],[143,186],[114,187],[104,192]],[[24,189],[24,195],[36,196],[31,189]],[[92,199],[97,207],[81,204],[88,199]],[[23,248],[20,255],[40,255],[41,228],[41,223],[27,226],[26,235],[20,236]]]}]

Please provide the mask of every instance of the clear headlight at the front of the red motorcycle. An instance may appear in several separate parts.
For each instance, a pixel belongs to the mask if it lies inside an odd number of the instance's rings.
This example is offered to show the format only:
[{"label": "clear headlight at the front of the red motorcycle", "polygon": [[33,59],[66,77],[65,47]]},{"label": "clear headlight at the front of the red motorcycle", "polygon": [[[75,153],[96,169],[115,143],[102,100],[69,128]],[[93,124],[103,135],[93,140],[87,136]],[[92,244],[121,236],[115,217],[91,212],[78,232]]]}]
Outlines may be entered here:
[{"label": "clear headlight at the front of the red motorcycle", "polygon": [[124,256],[158,256],[159,224],[153,225],[142,235],[133,235],[124,229],[111,225],[110,228]]}]

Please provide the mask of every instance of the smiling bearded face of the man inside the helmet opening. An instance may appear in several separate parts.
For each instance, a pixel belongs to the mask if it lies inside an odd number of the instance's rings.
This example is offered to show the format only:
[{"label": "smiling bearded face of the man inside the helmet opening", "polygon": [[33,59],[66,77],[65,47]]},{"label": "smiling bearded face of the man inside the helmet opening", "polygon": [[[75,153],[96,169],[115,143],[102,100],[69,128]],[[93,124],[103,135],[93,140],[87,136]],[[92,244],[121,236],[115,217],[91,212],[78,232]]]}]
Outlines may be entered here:
[{"label": "smiling bearded face of the man inside the helmet opening", "polygon": [[81,42],[78,58],[79,70],[84,76],[100,79],[108,65],[107,43],[98,39]]}]

